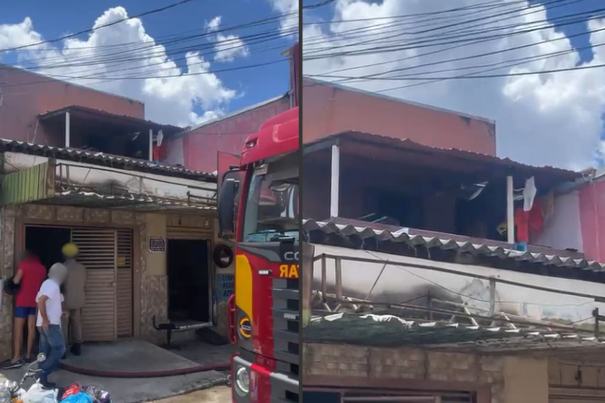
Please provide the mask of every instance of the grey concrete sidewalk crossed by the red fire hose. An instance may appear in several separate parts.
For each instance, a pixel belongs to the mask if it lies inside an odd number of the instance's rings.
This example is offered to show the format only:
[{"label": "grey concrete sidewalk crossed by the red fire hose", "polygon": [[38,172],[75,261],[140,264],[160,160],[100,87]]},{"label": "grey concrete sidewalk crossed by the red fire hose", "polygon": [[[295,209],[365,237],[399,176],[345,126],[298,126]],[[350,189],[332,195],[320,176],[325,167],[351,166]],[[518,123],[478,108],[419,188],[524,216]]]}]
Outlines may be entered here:
[{"label": "grey concrete sidewalk crossed by the red fire hose", "polygon": [[[68,356],[64,362],[87,369],[122,372],[183,369],[199,365],[181,355],[140,340],[86,344],[83,346],[82,356]],[[3,382],[4,379],[19,381],[23,373],[25,373],[25,367],[18,370],[1,370],[0,382]],[[225,385],[227,375],[211,370],[164,378],[120,379],[84,376],[59,370],[50,376],[50,381],[57,382],[64,387],[73,382],[93,385],[110,392],[111,400],[114,403],[139,403],[181,395],[215,385]],[[27,387],[30,384],[31,381],[28,382]]]}]

